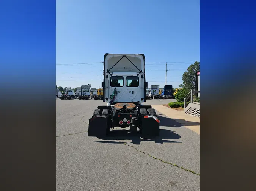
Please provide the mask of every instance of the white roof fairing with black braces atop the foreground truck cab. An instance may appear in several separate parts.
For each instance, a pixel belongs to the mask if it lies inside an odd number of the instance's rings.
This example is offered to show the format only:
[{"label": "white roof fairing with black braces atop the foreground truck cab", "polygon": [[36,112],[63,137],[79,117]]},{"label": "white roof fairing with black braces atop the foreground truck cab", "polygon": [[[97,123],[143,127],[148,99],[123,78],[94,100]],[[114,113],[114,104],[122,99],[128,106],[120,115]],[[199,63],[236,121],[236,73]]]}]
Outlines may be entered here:
[{"label": "white roof fairing with black braces atop the foreground truck cab", "polygon": [[108,54],[104,55],[104,74],[106,72],[142,72],[145,71],[144,54]]}]

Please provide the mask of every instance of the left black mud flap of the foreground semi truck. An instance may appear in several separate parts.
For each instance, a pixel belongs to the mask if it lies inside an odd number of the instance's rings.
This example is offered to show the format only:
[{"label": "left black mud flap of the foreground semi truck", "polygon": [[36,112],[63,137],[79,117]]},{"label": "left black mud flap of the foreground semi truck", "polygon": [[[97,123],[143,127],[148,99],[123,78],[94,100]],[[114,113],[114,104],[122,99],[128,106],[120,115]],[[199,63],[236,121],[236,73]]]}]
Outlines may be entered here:
[{"label": "left black mud flap of the foreground semi truck", "polygon": [[106,114],[94,114],[89,119],[88,137],[105,137],[110,126],[109,121]]}]

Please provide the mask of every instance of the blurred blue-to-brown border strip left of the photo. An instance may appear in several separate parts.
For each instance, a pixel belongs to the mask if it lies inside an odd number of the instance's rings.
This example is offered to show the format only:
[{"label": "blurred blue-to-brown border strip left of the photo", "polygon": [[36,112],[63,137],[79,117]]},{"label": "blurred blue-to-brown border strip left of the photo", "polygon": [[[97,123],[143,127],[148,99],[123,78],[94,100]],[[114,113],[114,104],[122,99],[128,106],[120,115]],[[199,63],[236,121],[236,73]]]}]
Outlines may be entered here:
[{"label": "blurred blue-to-brown border strip left of the photo", "polygon": [[55,1],[5,0],[0,18],[0,190],[55,190]]}]

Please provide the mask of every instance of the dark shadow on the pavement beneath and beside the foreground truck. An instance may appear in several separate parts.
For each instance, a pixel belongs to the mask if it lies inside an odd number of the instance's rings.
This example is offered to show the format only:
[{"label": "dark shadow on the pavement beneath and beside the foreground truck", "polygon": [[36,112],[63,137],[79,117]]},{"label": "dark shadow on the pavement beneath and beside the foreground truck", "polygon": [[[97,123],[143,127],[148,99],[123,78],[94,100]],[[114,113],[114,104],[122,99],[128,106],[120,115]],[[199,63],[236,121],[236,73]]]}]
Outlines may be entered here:
[{"label": "dark shadow on the pavement beneath and beside the foreground truck", "polygon": [[[160,132],[159,137],[143,137],[140,132],[131,132],[130,129],[113,129],[110,131],[108,136],[106,137],[97,137],[102,139],[102,141],[95,141],[99,143],[110,143],[110,144],[124,144],[124,143],[133,143],[140,144],[144,141],[154,141],[155,143],[163,144],[163,143],[182,143],[180,141],[174,140],[164,140],[164,139],[180,139],[181,136],[175,131],[171,131],[168,129],[161,129],[161,127],[180,127],[182,126],[180,123],[170,119],[168,117],[158,116],[160,119]],[[120,140],[131,140],[132,142],[122,142]]]}]

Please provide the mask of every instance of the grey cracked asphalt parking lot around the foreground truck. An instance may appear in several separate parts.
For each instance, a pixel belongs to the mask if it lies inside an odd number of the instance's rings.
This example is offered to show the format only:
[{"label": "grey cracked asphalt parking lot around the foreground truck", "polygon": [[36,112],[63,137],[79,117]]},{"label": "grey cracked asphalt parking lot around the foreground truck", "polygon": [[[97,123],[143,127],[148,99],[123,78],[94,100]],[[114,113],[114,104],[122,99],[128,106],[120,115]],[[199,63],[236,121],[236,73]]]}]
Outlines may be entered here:
[{"label": "grey cracked asphalt parking lot around the foreground truck", "polygon": [[[145,105],[175,100],[147,100]],[[160,136],[142,139],[115,128],[88,137],[88,119],[102,100],[56,100],[56,190],[199,190],[199,135],[157,112]]]}]

